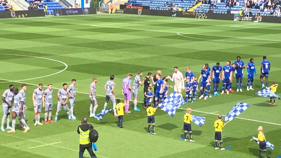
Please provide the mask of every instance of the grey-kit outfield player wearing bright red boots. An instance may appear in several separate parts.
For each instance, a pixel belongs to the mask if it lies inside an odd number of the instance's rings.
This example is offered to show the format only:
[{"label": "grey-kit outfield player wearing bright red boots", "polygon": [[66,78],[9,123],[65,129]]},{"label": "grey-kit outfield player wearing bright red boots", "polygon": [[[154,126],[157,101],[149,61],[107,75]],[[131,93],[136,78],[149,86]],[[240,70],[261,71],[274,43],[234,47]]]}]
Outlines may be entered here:
[{"label": "grey-kit outfield player wearing bright red boots", "polygon": [[[48,124],[49,122],[54,122],[51,117],[52,117],[52,110],[53,110],[53,98],[52,98],[52,94],[53,94],[53,90],[52,90],[52,84],[48,84],[47,85],[47,90],[44,91],[43,93],[43,97],[42,97],[42,103],[43,106],[45,107],[45,123]],[[48,118],[48,112],[49,112],[49,119],[47,121]]]}]

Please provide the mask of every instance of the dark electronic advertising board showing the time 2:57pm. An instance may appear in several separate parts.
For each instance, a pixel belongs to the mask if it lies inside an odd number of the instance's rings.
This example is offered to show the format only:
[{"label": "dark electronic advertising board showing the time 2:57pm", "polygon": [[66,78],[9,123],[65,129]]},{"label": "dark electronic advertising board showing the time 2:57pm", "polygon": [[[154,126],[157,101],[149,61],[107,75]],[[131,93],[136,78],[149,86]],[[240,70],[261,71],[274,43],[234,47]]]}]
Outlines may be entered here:
[{"label": "dark electronic advertising board showing the time 2:57pm", "polygon": [[54,9],[54,16],[97,14],[96,8]]}]

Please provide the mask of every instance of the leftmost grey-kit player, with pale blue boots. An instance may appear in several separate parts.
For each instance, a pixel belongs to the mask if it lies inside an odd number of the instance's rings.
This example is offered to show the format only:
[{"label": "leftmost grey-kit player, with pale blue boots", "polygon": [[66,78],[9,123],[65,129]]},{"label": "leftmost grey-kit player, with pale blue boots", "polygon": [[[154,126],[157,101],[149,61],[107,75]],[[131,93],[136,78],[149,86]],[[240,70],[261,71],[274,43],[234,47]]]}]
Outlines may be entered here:
[{"label": "leftmost grey-kit player, with pale blue boots", "polygon": [[10,85],[9,89],[5,90],[5,92],[2,95],[2,100],[3,100],[3,112],[4,115],[2,117],[2,122],[1,122],[1,130],[4,132],[4,123],[5,119],[7,117],[7,128],[6,129],[12,129],[10,127],[10,113],[11,113],[11,107],[14,102],[14,92],[13,92],[14,86]]}]

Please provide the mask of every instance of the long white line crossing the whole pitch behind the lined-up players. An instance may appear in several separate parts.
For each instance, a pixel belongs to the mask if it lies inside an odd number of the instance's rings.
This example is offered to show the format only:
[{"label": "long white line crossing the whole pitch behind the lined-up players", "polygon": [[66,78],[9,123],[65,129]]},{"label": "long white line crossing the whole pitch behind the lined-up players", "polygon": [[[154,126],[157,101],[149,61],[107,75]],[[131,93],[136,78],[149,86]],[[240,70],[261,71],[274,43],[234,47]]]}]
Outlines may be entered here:
[{"label": "long white line crossing the whole pitch behind the lined-up players", "polygon": [[[1,79],[1,78],[0,78],[0,80],[9,81],[9,82],[16,82],[16,83],[24,83],[24,82],[12,81],[12,80],[5,80],[5,79]],[[24,84],[38,86],[38,85],[35,85],[35,84],[32,84],[32,83],[24,83]],[[43,87],[47,87],[47,86],[43,86]],[[53,87],[53,89],[59,90],[59,88],[54,88],[54,87]],[[85,93],[85,92],[77,92],[77,93],[89,95],[89,93]],[[97,95],[97,96],[105,97],[104,95]],[[116,98],[116,99],[124,100],[123,98]],[[133,100],[130,100],[130,101],[133,101]],[[143,103],[143,102],[139,102],[139,103]],[[178,109],[186,110],[186,109],[182,109],[182,108],[178,108]],[[218,115],[218,114],[214,114],[214,113],[210,113],[210,112],[204,112],[204,111],[197,111],[197,110],[192,110],[192,111],[200,112],[200,113],[204,113],[204,114]],[[222,115],[222,116],[225,116],[225,115]],[[234,119],[242,119],[242,120],[247,120],[247,121],[261,122],[261,123],[267,123],[267,124],[281,126],[281,124],[278,124],[278,123],[264,122],[264,121],[258,121],[258,120],[252,120],[252,119],[244,119],[244,118],[241,118],[241,117],[235,117]]]}]

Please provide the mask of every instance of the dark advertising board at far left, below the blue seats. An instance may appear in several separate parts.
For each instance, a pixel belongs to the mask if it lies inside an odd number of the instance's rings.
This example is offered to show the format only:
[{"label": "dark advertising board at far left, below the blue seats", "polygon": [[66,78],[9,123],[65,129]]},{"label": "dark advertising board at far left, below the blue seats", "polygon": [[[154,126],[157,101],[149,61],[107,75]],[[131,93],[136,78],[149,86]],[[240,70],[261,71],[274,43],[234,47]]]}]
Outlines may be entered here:
[{"label": "dark advertising board at far left, below the blue seats", "polygon": [[35,11],[0,11],[0,18],[25,18],[25,17],[36,17],[44,16],[43,10]]}]

